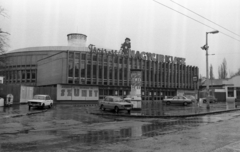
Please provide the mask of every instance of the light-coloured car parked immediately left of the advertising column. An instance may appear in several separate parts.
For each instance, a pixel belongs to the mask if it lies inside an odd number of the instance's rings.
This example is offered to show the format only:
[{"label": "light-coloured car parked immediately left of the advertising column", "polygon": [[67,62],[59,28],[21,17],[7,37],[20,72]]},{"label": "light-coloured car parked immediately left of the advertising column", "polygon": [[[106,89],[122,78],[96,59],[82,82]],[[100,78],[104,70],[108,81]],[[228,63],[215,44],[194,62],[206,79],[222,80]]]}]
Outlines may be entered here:
[{"label": "light-coloured car parked immediately left of the advertising column", "polygon": [[101,110],[112,109],[116,113],[120,110],[127,110],[128,113],[131,112],[133,104],[124,101],[119,96],[106,96],[103,100],[99,101],[99,107]]}]

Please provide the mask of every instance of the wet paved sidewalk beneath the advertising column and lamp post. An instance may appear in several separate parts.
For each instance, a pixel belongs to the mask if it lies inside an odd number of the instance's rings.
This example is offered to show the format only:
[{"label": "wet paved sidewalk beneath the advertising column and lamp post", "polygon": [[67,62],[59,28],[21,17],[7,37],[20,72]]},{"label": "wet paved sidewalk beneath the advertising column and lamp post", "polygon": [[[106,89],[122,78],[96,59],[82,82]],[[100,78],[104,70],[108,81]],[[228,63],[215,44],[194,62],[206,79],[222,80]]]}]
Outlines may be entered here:
[{"label": "wet paved sidewalk beneath the advertising column and lamp post", "polygon": [[196,104],[182,106],[182,105],[165,105],[163,111],[161,109],[145,109],[140,111],[132,111],[131,114],[120,112],[118,114],[112,111],[95,111],[91,112],[95,115],[108,115],[108,116],[123,116],[123,117],[139,117],[139,118],[169,118],[169,117],[191,117],[218,114],[225,112],[232,112],[240,110],[240,107],[235,108],[235,104],[231,103],[211,103],[210,109],[207,109],[207,105],[203,104],[201,107]]}]

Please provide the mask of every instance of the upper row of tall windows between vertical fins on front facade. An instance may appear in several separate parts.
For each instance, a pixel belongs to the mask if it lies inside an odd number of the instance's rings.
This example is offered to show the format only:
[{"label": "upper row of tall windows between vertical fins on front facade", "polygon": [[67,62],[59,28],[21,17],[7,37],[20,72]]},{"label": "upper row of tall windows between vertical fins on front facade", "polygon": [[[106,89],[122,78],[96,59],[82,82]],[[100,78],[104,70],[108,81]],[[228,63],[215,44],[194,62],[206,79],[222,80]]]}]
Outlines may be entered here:
[{"label": "upper row of tall windows between vertical fins on front facade", "polygon": [[[97,70],[98,68],[98,70]],[[80,71],[79,71],[80,70]],[[98,73],[97,73],[98,72]],[[81,76],[79,76],[79,73]],[[158,74],[158,75],[157,75]],[[72,66],[69,66],[69,72],[68,77],[74,77],[75,78],[99,78],[99,79],[115,79],[117,80],[127,80],[127,76],[130,78],[130,69],[127,68],[117,68],[117,67],[108,67],[108,66],[102,66],[102,65],[93,65],[91,66],[88,64],[85,66],[85,64],[81,64],[81,67],[79,68],[79,64],[75,66],[75,69]],[[164,76],[166,75],[166,76]],[[91,77],[92,76],[92,77]],[[142,80],[146,81],[159,81],[159,82],[170,82],[170,83],[191,83],[192,82],[192,76],[193,73],[189,72],[177,72],[177,71],[163,71],[159,69],[158,73],[154,70],[145,70],[142,71]]]}]

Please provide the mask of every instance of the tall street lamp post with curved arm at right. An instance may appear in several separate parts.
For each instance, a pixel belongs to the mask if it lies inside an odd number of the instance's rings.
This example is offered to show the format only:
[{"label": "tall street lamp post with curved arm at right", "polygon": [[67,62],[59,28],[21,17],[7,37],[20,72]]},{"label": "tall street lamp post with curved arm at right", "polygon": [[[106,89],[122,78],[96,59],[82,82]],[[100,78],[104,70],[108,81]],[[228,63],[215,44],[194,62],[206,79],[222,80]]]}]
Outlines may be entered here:
[{"label": "tall street lamp post with curved arm at right", "polygon": [[206,32],[206,44],[203,46],[203,47],[201,47],[203,50],[206,50],[206,75],[207,75],[207,109],[210,109],[210,104],[209,104],[209,98],[208,98],[208,96],[209,96],[209,75],[208,75],[208,56],[210,55],[210,54],[208,54],[208,48],[209,48],[209,46],[208,46],[208,34],[217,34],[217,33],[219,33],[219,31],[212,31],[212,32]]}]

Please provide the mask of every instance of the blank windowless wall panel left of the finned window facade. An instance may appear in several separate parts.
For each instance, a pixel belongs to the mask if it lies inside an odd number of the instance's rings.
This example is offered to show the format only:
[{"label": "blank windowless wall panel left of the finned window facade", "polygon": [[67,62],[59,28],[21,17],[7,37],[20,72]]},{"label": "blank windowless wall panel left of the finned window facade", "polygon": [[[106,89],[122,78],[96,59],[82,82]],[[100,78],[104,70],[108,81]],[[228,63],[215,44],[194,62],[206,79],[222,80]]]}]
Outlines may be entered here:
[{"label": "blank windowless wall panel left of the finned window facade", "polygon": [[49,56],[37,63],[37,86],[67,83],[67,52]]}]

